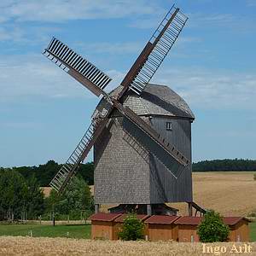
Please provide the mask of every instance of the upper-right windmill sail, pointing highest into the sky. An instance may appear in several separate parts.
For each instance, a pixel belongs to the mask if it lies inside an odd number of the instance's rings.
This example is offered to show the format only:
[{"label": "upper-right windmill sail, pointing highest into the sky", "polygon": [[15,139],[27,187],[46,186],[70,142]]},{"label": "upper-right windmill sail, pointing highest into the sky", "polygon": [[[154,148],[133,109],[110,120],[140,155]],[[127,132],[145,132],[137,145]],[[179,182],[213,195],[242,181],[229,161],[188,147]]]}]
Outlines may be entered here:
[{"label": "upper-right windmill sail, pointing highest into the sky", "polygon": [[188,17],[173,5],[138,56],[137,61],[126,74],[125,79],[121,82],[124,89],[119,94],[119,98],[125,94],[128,88],[138,95],[142,93],[170,49],[172,49],[172,45],[177,40],[187,20]]}]

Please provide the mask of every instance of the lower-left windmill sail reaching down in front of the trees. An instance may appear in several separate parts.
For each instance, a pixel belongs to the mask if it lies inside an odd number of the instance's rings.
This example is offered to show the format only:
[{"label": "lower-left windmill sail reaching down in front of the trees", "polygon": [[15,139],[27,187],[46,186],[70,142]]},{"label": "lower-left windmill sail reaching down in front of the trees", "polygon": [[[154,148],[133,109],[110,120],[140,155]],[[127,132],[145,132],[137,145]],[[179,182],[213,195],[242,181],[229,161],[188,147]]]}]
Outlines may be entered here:
[{"label": "lower-left windmill sail reaching down in front of the trees", "polygon": [[61,166],[60,171],[57,172],[55,177],[49,183],[49,185],[58,193],[61,194],[61,192],[66,188],[73,175],[77,172],[80,163],[84,161],[85,157],[90,152],[90,148],[92,148],[107,123],[108,116],[103,118],[101,121],[91,122],[77,148],[75,148],[73,153],[67,159],[67,162]]}]

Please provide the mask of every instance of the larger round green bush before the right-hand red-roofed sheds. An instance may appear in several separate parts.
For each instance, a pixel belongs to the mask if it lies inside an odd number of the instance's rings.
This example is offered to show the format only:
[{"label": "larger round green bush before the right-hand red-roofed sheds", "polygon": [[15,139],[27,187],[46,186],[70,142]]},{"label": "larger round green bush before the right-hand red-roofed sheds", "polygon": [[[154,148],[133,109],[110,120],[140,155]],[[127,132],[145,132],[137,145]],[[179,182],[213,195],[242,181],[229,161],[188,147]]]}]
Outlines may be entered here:
[{"label": "larger round green bush before the right-hand red-roofed sheds", "polygon": [[203,242],[227,241],[230,228],[224,224],[218,212],[209,211],[198,226],[197,234]]}]

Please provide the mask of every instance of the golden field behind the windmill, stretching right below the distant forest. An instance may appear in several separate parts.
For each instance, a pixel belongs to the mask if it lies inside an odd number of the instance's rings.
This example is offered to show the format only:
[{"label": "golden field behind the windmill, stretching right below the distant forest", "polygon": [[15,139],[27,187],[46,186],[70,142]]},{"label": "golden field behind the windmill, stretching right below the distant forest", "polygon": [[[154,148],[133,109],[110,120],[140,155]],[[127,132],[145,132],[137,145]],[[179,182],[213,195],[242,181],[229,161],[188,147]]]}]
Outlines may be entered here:
[{"label": "golden field behind the windmill, stretching right below the distant forest", "polygon": [[[213,209],[225,216],[246,216],[256,210],[255,172],[194,172],[194,201],[201,207]],[[93,186],[91,186],[93,191]],[[170,204],[187,214],[187,204]],[[102,206],[102,211],[108,207]]]}]

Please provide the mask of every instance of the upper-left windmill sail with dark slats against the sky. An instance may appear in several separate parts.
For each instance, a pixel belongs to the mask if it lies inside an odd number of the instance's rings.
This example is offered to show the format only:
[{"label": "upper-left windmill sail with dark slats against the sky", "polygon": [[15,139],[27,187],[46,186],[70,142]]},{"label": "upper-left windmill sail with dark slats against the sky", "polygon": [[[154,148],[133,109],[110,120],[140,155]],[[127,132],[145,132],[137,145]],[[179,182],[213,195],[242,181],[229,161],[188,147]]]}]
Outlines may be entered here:
[{"label": "upper-left windmill sail with dark slats against the sky", "polygon": [[75,53],[66,44],[61,43],[56,38],[52,38],[43,54],[96,96],[105,94],[103,90],[112,79],[85,60],[84,57]]}]

